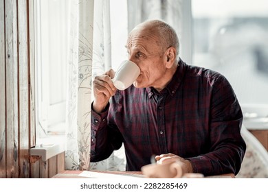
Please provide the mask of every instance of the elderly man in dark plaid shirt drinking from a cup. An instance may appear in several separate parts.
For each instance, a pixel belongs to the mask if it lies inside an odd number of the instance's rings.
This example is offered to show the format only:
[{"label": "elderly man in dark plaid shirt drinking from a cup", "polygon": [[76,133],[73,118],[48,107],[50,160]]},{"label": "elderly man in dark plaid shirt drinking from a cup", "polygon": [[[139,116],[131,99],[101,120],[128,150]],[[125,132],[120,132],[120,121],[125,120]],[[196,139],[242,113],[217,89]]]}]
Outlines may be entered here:
[{"label": "elderly man in dark plaid shirt drinking from a cup", "polygon": [[141,71],[133,85],[116,90],[113,70],[93,81],[91,162],[124,143],[127,171],[140,171],[155,154],[186,173],[238,173],[243,114],[225,77],[183,62],[175,30],[162,21],[137,25],[126,48]]}]

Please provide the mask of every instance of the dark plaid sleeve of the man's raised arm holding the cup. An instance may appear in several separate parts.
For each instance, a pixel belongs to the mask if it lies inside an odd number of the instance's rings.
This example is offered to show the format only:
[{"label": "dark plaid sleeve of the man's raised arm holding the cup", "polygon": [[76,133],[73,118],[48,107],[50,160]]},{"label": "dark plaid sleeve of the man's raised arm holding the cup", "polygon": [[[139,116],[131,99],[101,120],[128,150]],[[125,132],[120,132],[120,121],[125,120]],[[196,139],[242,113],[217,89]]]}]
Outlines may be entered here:
[{"label": "dark plaid sleeve of the man's raised arm holding the cup", "polygon": [[122,146],[122,134],[115,125],[107,120],[109,106],[98,114],[91,104],[91,162],[109,158],[113,150]]}]

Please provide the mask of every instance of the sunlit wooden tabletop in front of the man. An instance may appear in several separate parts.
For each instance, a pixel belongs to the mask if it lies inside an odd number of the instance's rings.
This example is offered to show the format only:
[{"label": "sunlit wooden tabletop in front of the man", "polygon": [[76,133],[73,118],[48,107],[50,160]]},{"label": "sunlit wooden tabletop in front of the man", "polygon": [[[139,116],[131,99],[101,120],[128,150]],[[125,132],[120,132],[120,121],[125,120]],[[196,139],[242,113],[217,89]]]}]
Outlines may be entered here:
[{"label": "sunlit wooden tabletop in front of the man", "polygon": [[[96,172],[142,177],[142,171],[96,171]],[[87,178],[87,177],[79,176],[80,173],[82,173],[82,171],[66,170],[66,171],[63,171],[62,173],[56,174],[52,178]],[[235,176],[233,173],[229,173],[229,174],[223,174],[220,176],[208,176],[205,178],[235,178]]]}]

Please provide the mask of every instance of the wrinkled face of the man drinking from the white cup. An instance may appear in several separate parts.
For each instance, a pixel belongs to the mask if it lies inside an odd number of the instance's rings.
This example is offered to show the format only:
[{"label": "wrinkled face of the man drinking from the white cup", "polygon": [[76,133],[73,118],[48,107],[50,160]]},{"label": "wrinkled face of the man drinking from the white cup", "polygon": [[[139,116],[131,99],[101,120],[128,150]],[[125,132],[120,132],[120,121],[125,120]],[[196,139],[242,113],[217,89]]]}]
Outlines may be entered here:
[{"label": "wrinkled face of the man drinking from the white cup", "polygon": [[129,60],[135,62],[141,73],[133,83],[137,88],[162,86],[163,75],[166,67],[164,63],[164,45],[155,32],[144,27],[137,27],[131,32],[127,40],[126,48],[129,52]]}]

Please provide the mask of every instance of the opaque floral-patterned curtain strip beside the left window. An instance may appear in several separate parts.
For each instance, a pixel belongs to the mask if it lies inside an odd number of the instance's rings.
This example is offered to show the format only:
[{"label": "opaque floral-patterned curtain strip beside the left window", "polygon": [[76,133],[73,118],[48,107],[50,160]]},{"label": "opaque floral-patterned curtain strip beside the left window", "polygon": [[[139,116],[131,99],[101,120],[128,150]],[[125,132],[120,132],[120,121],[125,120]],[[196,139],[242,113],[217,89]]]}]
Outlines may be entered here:
[{"label": "opaque floral-patterned curtain strip beside the left window", "polygon": [[69,0],[65,169],[89,170],[93,0]]}]

